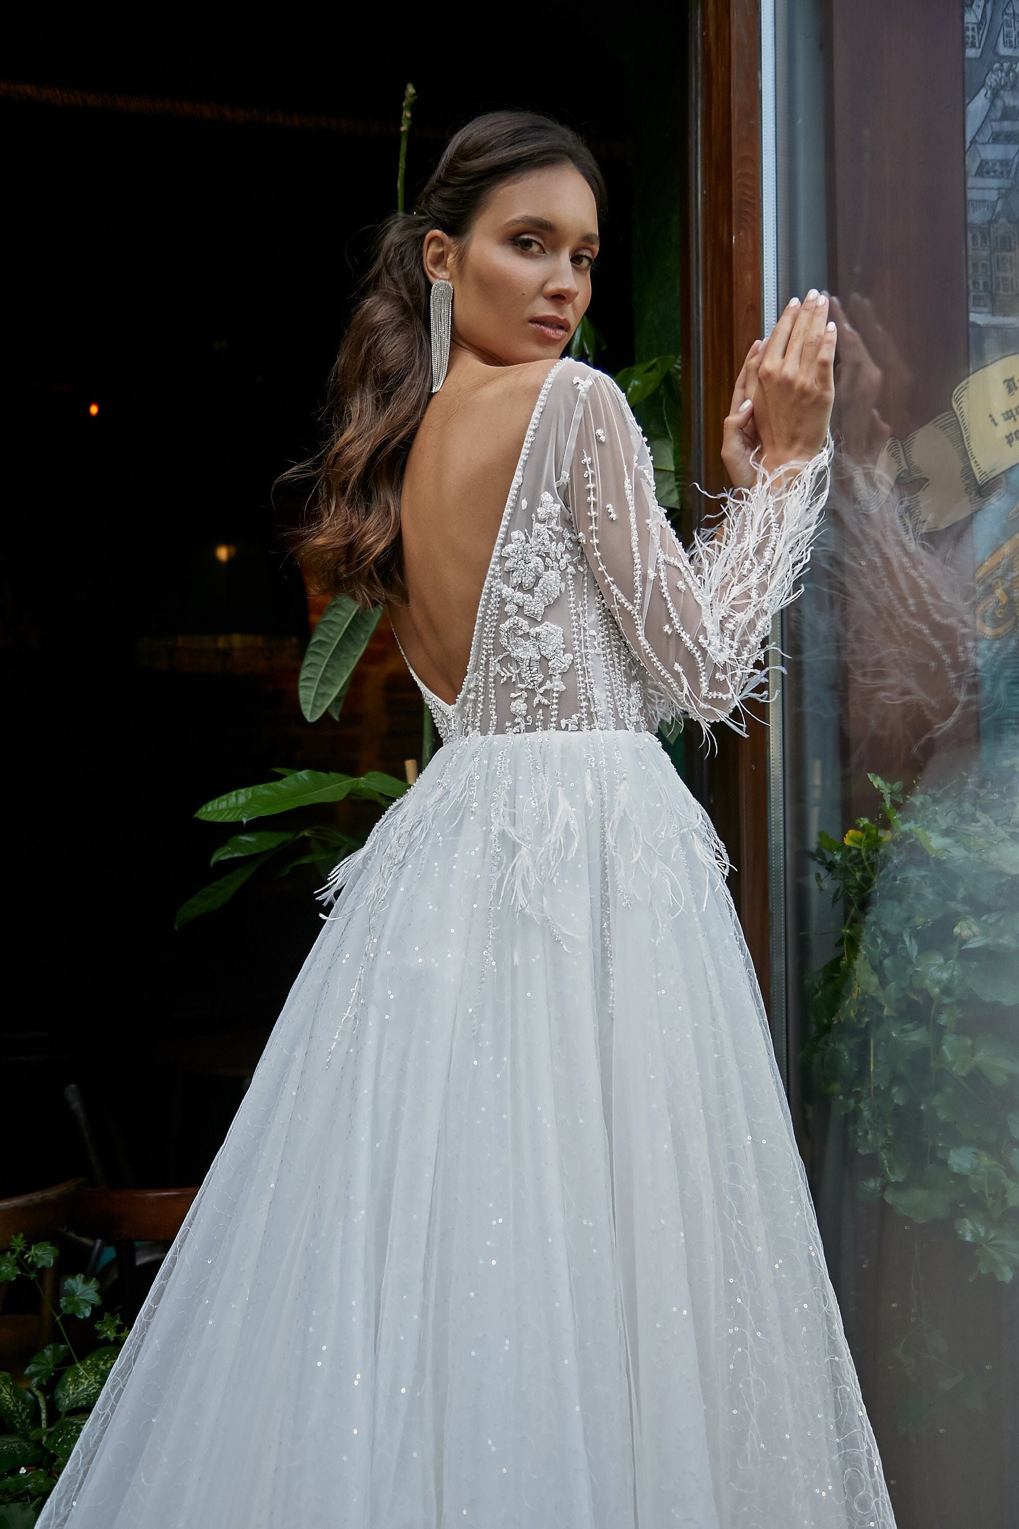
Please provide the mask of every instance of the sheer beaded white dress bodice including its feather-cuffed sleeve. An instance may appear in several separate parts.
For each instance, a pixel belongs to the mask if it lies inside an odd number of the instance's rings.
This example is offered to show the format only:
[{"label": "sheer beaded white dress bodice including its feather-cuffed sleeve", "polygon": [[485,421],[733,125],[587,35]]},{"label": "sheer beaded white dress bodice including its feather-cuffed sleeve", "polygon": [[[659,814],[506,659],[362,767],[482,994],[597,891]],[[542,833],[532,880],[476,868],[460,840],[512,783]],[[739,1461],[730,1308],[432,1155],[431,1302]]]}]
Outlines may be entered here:
[{"label": "sheer beaded white dress bodice including its feather-cuffed sleeve", "polygon": [[686,549],[648,443],[603,372],[558,361],[538,396],[454,705],[414,674],[445,743],[483,732],[744,732],[772,618],[796,593],[828,492],[831,437],[784,488],[724,495]]}]

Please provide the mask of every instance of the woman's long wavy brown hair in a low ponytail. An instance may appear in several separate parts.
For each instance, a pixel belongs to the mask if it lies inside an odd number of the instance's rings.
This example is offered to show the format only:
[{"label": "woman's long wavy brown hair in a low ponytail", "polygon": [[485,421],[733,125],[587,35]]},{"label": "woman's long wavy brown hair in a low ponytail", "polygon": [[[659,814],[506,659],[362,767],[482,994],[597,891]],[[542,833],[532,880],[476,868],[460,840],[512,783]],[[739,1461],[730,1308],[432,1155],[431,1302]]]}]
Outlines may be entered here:
[{"label": "woman's long wavy brown hair in a low ponytail", "polygon": [[414,211],[382,223],[330,376],[325,445],[283,474],[315,479],[313,512],[295,550],[319,590],[361,607],[406,598],[400,488],[431,398],[425,235],[440,228],[463,237],[497,185],[556,164],[579,170],[602,213],[602,173],[571,128],[532,112],[490,112],[449,141]]}]

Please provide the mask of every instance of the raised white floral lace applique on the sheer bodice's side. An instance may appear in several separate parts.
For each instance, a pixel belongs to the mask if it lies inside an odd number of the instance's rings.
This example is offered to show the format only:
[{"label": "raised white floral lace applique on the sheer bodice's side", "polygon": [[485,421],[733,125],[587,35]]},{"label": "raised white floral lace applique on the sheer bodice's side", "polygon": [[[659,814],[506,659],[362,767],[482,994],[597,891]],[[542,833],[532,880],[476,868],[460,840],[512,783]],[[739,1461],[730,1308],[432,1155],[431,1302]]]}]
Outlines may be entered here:
[{"label": "raised white floral lace applique on the sheer bodice's side", "polygon": [[[527,509],[527,500],[521,500],[521,509]],[[501,553],[506,619],[498,628],[503,651],[497,654],[495,671],[513,687],[515,732],[524,732],[529,722],[536,728],[556,726],[559,693],[565,690],[562,676],[573,664],[562,627],[542,621],[565,590],[567,576],[579,567],[579,541],[562,524],[561,511],[559,500],[545,489],[532,515],[532,529],[513,531]]]}]

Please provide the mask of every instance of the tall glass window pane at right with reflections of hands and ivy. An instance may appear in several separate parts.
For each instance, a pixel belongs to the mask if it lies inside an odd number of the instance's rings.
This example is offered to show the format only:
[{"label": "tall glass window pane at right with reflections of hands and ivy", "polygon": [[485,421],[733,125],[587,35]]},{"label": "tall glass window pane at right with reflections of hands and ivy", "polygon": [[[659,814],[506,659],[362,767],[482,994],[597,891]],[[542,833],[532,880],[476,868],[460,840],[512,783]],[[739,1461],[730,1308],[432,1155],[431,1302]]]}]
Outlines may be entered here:
[{"label": "tall glass window pane at right with reflections of hands and ivy", "polygon": [[[791,1102],[901,1529],[1019,1500],[1019,8],[779,6],[837,457],[785,618]],[[823,138],[822,156],[816,151]]]}]

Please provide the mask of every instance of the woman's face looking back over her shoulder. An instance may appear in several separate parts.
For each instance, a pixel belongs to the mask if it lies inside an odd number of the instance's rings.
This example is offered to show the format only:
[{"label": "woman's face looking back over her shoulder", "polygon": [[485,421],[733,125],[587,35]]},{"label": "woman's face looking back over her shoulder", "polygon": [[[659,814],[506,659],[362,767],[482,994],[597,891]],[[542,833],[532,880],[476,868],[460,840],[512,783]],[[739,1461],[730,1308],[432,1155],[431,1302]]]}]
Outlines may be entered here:
[{"label": "woman's face looking back over her shoulder", "polygon": [[432,229],[425,271],[452,281],[452,344],[515,365],[562,355],[591,301],[596,254],[594,196],[564,164],[498,185],[463,239]]}]

